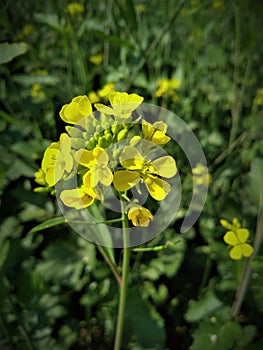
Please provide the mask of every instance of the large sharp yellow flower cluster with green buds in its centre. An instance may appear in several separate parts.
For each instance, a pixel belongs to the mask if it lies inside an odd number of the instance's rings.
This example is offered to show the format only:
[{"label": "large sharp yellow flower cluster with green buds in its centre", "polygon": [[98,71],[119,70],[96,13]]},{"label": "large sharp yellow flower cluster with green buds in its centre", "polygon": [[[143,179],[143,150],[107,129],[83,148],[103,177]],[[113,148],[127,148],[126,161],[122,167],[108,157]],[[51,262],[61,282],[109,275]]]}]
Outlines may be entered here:
[{"label": "large sharp yellow flower cluster with green buds in its centre", "polygon": [[95,103],[94,112],[87,96],[77,96],[62,107],[60,117],[71,125],[46,149],[35,181],[54,192],[59,181],[76,176],[78,185],[62,190],[59,196],[64,205],[77,210],[95,200],[103,201],[112,186],[120,199],[123,196],[128,201],[128,219],[145,227],[153,214],[138,200],[131,202],[128,194],[132,188],[140,194],[141,184],[157,201],[170,192],[170,184],[163,178],[176,175],[175,160],[156,156],[157,148],[170,140],[167,125],[162,121],[151,124],[135,113],[143,102],[137,94],[113,92],[109,102],[110,106]]}]

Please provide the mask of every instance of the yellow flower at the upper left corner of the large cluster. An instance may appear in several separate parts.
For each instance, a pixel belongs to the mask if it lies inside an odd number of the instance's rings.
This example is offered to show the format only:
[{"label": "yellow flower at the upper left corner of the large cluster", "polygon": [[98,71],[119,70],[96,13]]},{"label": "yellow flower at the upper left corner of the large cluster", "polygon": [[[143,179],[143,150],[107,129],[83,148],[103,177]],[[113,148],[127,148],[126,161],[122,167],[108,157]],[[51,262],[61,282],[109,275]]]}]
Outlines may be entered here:
[{"label": "yellow flower at the upper left corner of the large cluster", "polygon": [[77,96],[62,107],[59,115],[64,122],[77,124],[84,117],[92,115],[92,106],[87,96]]}]

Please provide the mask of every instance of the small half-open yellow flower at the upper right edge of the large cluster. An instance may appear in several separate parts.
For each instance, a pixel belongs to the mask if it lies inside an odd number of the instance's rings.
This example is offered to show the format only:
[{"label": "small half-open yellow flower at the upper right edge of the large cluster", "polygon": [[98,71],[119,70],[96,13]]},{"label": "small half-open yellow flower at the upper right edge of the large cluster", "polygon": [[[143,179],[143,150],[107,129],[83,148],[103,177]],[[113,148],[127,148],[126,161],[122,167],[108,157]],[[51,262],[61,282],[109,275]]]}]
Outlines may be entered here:
[{"label": "small half-open yellow flower at the upper right edge of the large cluster", "polygon": [[165,135],[167,124],[162,121],[150,124],[145,120],[142,121],[142,132],[146,140],[152,141],[157,145],[164,145],[170,141],[170,137]]}]

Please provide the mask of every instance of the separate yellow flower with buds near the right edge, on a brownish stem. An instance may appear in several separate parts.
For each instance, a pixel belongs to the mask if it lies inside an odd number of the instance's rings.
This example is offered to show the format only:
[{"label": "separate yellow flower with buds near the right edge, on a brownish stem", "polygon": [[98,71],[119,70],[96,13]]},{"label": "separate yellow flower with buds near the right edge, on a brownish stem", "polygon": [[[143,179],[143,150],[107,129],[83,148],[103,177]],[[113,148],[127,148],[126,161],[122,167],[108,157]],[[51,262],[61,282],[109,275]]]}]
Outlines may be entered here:
[{"label": "separate yellow flower with buds near the right edge, on a brownish stem", "polygon": [[224,235],[224,241],[230,245],[230,258],[240,260],[242,257],[250,257],[254,251],[253,247],[247,243],[249,231],[242,228],[237,218],[234,218],[232,224],[226,220],[220,220],[221,226],[228,229]]}]

